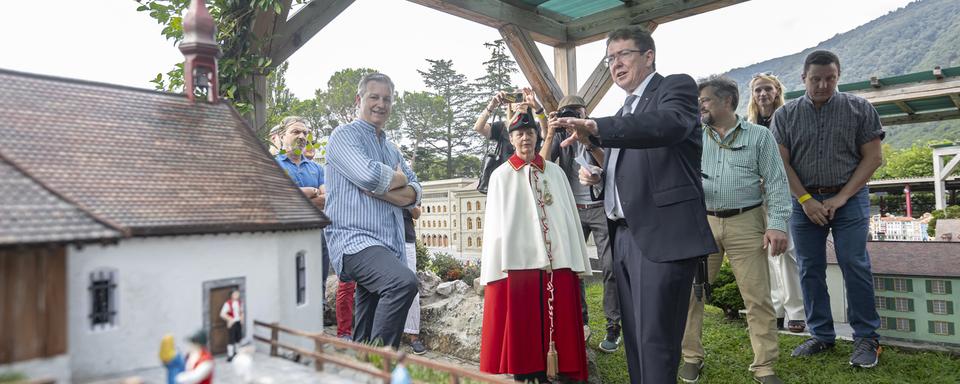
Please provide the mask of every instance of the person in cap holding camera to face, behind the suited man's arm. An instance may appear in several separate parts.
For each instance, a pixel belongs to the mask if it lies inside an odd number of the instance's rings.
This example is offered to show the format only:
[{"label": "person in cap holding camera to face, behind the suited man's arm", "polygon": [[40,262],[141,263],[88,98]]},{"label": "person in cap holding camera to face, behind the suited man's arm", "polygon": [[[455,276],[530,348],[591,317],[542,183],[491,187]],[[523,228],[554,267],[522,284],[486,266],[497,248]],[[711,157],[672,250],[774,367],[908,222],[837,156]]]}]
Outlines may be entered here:
[{"label": "person in cap holding camera to face, behind the suited man's arm", "polygon": [[[580,226],[583,228],[584,240],[593,233],[593,242],[597,246],[597,256],[600,258],[600,268],[603,271],[603,313],[607,318],[607,335],[600,342],[600,350],[616,352],[620,347],[620,301],[617,298],[617,281],[613,277],[613,253],[610,250],[609,229],[607,217],[603,211],[603,201],[594,201],[590,195],[590,187],[580,184],[578,170],[579,163],[599,165],[603,164],[603,149],[579,141],[565,148],[560,143],[567,138],[567,132],[560,126],[559,120],[563,117],[583,119],[587,117],[587,103],[582,97],[568,95],[560,100],[560,109],[550,112],[547,119],[547,129],[543,133],[543,148],[540,156],[557,163],[573,190],[573,197],[580,215]],[[581,287],[582,289],[583,287]],[[582,294],[583,292],[581,292]],[[583,305],[583,323],[588,323],[587,305]],[[584,330],[588,335],[589,331]],[[589,336],[587,336],[589,337]]]}]

